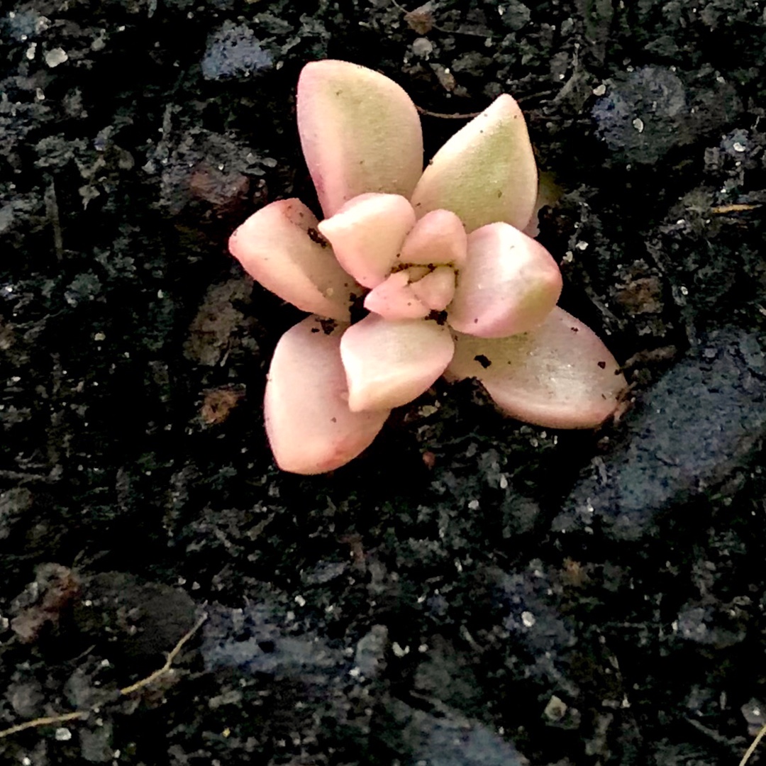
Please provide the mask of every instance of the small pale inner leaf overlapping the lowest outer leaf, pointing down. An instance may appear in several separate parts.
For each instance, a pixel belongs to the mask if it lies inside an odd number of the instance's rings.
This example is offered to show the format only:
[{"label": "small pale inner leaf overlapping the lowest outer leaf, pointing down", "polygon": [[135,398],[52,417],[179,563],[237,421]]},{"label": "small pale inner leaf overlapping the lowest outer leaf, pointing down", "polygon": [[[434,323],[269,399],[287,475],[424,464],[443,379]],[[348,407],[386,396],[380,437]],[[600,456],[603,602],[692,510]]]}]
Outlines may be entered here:
[{"label": "small pale inner leaf overlapping the lowest outer leaf, pointing down", "polygon": [[388,411],[408,404],[444,372],[453,348],[450,331],[436,322],[389,322],[368,314],[343,333],[340,343],[349,408]]}]

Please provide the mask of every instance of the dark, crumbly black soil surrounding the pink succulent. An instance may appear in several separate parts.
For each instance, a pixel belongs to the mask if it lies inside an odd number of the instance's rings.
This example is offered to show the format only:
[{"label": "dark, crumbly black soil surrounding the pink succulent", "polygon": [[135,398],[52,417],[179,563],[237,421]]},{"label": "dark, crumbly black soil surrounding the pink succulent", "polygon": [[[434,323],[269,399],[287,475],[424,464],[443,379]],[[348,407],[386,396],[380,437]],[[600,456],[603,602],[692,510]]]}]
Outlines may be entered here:
[{"label": "dark, crumbly black soil surrounding the pink succulent", "polygon": [[[75,714],[0,732],[2,764],[736,766],[766,720],[762,3],[408,11],[2,4],[0,729]],[[520,100],[620,421],[440,384],[342,470],[276,469],[300,314],[226,241],[316,203],[322,57],[434,113]],[[424,116],[427,152],[463,124]]]}]

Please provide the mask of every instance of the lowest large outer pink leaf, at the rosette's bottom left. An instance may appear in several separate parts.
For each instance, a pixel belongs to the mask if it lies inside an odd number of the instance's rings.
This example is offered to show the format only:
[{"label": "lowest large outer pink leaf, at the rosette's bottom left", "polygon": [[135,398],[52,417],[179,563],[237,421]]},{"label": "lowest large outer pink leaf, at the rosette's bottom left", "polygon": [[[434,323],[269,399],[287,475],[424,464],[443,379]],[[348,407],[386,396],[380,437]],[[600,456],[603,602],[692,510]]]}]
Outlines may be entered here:
[{"label": "lowest large outer pink leaf, at the rosette's bottom left", "polygon": [[347,325],[309,316],[277,343],[266,384],[266,433],[277,465],[291,473],[325,473],[365,450],[388,410],[352,412],[340,340]]}]

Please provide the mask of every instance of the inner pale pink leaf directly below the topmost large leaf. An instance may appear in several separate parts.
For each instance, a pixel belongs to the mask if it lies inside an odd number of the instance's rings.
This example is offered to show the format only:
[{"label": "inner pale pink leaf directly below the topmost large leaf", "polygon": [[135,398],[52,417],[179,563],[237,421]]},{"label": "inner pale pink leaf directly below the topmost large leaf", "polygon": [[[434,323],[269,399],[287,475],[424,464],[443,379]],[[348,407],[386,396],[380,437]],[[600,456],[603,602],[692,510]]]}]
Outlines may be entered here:
[{"label": "inner pale pink leaf directly below the topmost large leaf", "polygon": [[363,194],[319,224],[339,264],[365,287],[378,286],[397,263],[404,237],[415,224],[401,195]]}]

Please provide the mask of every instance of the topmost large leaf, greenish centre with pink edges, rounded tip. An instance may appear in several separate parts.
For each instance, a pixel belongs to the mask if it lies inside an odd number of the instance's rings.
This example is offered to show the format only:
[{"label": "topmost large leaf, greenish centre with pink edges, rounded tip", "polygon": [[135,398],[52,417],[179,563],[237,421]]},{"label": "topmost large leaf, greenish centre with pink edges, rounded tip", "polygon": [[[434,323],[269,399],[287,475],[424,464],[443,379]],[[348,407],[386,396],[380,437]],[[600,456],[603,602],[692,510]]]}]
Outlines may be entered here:
[{"label": "topmost large leaf, greenish centre with pink edges, rounded tip", "polygon": [[393,80],[347,61],[306,64],[298,132],[325,218],[368,191],[409,198],[423,171],[421,120]]}]

